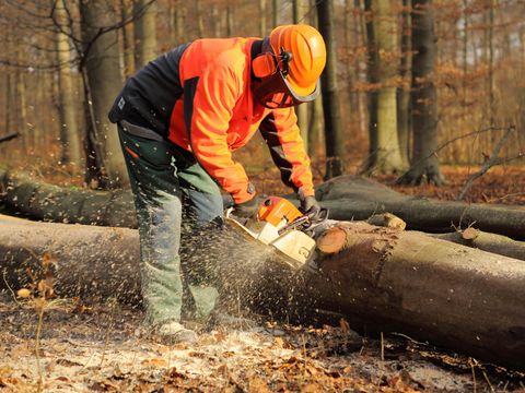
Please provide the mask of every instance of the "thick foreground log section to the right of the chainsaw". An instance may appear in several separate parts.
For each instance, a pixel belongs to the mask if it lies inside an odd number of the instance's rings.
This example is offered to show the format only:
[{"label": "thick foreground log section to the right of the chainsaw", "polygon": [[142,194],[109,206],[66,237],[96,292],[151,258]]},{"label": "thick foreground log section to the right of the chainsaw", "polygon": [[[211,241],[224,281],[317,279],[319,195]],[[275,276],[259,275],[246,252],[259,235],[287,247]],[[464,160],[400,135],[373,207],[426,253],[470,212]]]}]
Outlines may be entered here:
[{"label": "thick foreground log section to the right of the chainsaw", "polygon": [[[334,252],[341,231],[346,242]],[[318,308],[353,317],[369,331],[404,332],[525,368],[522,261],[365,223],[341,224],[318,243],[330,245],[320,274],[307,281]]]}]

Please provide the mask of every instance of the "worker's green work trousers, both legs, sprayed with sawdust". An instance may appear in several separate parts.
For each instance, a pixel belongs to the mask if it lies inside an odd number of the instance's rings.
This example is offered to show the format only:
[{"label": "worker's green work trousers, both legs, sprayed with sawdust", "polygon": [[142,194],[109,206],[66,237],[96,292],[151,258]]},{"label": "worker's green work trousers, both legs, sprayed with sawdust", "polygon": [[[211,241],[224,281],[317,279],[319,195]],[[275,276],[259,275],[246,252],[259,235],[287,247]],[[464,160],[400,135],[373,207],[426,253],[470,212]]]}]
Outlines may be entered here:
[{"label": "worker's green work trousers, both legs, sprayed with sawdust", "polygon": [[183,310],[206,318],[219,295],[202,261],[210,262],[206,243],[220,231],[220,189],[190,152],[153,131],[119,122],[118,133],[139,225],[147,322],[180,321]]}]

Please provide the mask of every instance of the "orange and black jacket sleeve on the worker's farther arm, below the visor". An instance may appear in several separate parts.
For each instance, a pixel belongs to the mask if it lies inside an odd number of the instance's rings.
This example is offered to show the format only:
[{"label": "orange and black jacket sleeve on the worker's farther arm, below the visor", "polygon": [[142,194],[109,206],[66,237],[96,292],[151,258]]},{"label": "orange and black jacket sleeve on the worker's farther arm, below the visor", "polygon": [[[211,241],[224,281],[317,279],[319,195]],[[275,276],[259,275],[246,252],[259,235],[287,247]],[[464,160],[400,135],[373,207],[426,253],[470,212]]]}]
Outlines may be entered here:
[{"label": "orange and black jacket sleeve on the worker's farther arm, below the visor", "polygon": [[273,109],[260,123],[260,132],[281,171],[282,182],[303,196],[314,195],[310,158],[293,108]]}]

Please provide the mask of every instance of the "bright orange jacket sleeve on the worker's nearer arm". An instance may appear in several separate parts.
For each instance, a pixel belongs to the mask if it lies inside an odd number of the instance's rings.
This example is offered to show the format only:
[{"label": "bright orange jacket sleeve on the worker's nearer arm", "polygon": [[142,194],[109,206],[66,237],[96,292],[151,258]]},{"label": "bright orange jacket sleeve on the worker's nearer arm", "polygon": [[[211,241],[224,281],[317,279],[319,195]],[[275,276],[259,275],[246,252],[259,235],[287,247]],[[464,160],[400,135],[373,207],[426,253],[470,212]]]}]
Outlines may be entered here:
[{"label": "bright orange jacket sleeve on the worker's nearer arm", "polygon": [[205,170],[232,194],[235,203],[254,198],[248,177],[228,147],[226,133],[233,108],[243,88],[242,75],[228,66],[203,70],[185,81],[185,121],[191,150]]}]

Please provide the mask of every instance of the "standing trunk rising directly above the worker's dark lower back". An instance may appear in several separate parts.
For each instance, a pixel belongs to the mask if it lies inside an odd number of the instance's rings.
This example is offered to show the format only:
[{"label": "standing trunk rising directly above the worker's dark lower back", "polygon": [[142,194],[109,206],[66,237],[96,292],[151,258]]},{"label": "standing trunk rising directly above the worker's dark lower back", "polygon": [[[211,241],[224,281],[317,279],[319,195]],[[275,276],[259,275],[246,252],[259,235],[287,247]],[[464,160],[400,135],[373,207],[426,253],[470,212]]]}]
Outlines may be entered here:
[{"label": "standing trunk rising directly above the worker's dark lower back", "polygon": [[138,0],[135,14],[135,53],[136,67],[141,69],[156,58],[156,2]]}]

